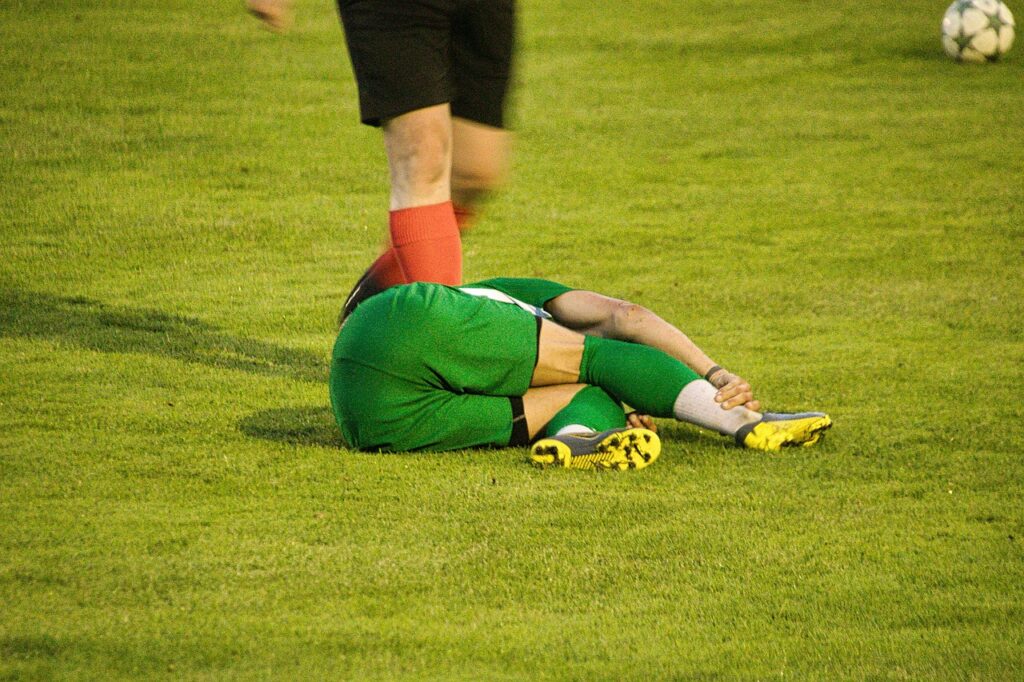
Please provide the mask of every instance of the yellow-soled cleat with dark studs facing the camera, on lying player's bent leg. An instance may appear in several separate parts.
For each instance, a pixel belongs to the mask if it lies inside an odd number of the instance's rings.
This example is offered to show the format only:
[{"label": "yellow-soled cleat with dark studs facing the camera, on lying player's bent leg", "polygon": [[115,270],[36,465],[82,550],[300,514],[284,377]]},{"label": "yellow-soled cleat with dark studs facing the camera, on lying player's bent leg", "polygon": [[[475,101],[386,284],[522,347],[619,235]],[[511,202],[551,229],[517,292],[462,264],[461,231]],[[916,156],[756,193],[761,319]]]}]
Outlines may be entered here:
[{"label": "yellow-soled cleat with dark studs facing the camera, on lying player's bent leg", "polygon": [[626,427],[542,438],[529,449],[529,461],[540,467],[625,471],[643,469],[660,454],[656,433]]}]

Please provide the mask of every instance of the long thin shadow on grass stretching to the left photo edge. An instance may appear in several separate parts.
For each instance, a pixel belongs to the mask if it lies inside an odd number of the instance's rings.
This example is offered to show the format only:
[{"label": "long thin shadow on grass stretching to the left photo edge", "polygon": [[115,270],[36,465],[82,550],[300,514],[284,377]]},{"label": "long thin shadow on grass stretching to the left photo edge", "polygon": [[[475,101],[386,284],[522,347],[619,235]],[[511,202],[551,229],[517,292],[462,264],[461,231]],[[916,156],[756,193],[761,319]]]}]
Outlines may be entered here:
[{"label": "long thin shadow on grass stretching to the left photo edge", "polygon": [[80,296],[0,289],[0,337],[49,339],[110,353],[145,353],[252,374],[327,383],[328,363],[305,350],[231,336],[160,310]]}]

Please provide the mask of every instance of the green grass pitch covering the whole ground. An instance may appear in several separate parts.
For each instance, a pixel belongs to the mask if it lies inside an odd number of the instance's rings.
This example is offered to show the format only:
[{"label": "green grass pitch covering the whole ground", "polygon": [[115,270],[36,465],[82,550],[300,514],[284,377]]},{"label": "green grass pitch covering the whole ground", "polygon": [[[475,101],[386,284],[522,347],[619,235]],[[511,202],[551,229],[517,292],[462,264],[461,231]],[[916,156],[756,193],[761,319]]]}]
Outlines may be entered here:
[{"label": "green grass pitch covering the whole ground", "polygon": [[0,5],[0,679],[1024,678],[1024,45],[944,9],[524,0],[467,279],[836,420],[597,475],[343,447],[387,176],[331,3]]}]

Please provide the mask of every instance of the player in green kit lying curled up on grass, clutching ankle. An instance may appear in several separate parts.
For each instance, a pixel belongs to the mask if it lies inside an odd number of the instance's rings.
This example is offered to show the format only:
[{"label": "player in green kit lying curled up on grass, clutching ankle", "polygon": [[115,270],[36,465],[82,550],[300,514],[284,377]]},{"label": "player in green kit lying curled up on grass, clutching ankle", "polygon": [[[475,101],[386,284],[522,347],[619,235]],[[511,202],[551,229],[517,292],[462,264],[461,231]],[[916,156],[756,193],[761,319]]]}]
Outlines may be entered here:
[{"label": "player in green kit lying curled up on grass, clutching ankle", "polygon": [[766,451],[812,445],[831,426],[821,413],[759,412],[750,384],[654,313],[545,280],[415,283],[367,299],[338,334],[331,404],[358,450],[532,442],[534,463],[575,468],[652,462],[650,417]]}]

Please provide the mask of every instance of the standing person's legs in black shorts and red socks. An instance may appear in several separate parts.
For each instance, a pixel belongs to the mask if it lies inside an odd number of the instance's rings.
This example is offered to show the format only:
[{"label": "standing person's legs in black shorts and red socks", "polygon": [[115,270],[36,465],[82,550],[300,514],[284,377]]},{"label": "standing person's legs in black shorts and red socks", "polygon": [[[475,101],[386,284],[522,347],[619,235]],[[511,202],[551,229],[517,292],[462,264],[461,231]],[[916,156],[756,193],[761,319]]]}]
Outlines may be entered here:
[{"label": "standing person's legs in black shorts and red socks", "polygon": [[458,230],[507,166],[515,9],[514,0],[338,4],[362,120],[383,124],[391,171],[391,240],[344,318],[395,284],[461,284]]}]

